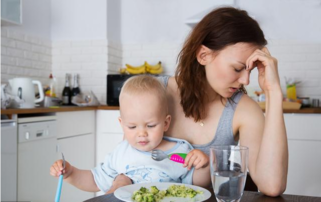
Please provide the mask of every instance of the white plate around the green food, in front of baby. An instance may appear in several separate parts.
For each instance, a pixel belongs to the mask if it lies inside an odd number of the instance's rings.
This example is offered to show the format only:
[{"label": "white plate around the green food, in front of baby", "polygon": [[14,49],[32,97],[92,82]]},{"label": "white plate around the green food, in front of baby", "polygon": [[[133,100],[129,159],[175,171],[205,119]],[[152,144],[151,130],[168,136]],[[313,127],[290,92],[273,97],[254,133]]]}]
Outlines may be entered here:
[{"label": "white plate around the green food, in front of baby", "polygon": [[[118,188],[115,192],[114,195],[116,198],[122,201],[127,201],[127,202],[135,202],[132,199],[132,195],[134,191],[139,190],[141,187],[146,187],[150,188],[151,186],[156,186],[159,190],[166,190],[168,187],[171,185],[183,185],[180,183],[163,183],[163,182],[155,182],[155,183],[141,183],[141,184],[132,184],[132,185],[127,185],[124,187]],[[201,202],[209,199],[211,197],[211,192],[208,190],[194,186],[194,185],[189,185],[189,184],[184,184],[186,187],[192,188],[196,191],[202,191],[203,194],[197,194],[194,198],[182,198],[182,197],[165,197],[161,201],[162,202],[188,202],[188,201],[193,201],[193,202]]]}]

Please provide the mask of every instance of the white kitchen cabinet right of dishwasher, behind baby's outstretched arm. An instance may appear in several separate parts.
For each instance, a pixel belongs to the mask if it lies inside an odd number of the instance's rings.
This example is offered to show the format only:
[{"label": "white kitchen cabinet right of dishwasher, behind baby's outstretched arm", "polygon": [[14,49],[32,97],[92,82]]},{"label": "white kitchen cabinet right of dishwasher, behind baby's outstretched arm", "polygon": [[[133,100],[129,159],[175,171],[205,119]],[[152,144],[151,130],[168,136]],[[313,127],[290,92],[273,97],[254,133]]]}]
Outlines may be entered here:
[{"label": "white kitchen cabinet right of dishwasher, behind baby's outstretched arm", "polygon": [[[57,159],[63,152],[66,161],[79,169],[95,166],[95,114],[94,110],[57,113]],[[60,201],[79,202],[94,196],[65,182]]]}]

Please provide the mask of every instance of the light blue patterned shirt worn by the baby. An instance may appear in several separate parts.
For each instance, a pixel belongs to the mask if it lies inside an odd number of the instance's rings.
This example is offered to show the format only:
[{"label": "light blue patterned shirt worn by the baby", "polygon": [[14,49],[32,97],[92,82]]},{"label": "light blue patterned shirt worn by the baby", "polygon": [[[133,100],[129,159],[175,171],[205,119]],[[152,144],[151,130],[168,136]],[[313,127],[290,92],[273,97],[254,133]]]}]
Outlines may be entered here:
[{"label": "light blue patterned shirt worn by the baby", "polygon": [[[193,149],[185,140],[164,137],[165,140],[176,142],[176,145],[166,154],[188,153]],[[183,164],[164,159],[155,161],[150,152],[144,152],[133,148],[127,140],[122,141],[116,149],[105,157],[103,163],[91,169],[97,187],[107,192],[114,178],[123,173],[136,183],[149,182],[178,182],[184,184],[193,183],[194,168],[190,171]]]}]

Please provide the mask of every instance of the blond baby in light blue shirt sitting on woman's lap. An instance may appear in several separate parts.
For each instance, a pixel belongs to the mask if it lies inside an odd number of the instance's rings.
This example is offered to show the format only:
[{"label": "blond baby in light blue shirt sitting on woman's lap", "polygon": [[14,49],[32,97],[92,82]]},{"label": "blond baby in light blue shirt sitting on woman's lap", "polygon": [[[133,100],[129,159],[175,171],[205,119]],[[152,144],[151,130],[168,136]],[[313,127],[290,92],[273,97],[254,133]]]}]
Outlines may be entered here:
[{"label": "blond baby in light blue shirt sitting on woman's lap", "polygon": [[[167,110],[166,91],[155,77],[141,75],[128,79],[120,96],[119,122],[124,140],[108,154],[103,163],[90,170],[80,170],[62,160],[50,168],[50,174],[64,179],[85,191],[107,192],[119,174],[133,183],[178,182],[207,186],[210,184],[208,156],[193,150],[185,140],[163,137],[169,128],[171,116]],[[190,153],[184,165],[165,159],[155,161],[151,151],[159,149],[166,154]],[[194,166],[192,169],[191,166]]]}]

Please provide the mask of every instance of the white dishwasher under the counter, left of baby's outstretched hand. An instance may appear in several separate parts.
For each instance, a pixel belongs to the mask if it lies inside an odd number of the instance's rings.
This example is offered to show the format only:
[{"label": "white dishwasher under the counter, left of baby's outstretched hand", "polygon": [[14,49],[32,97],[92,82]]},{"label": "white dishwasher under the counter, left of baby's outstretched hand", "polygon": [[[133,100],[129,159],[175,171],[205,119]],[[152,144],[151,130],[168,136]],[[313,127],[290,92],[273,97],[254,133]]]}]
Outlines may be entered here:
[{"label": "white dishwasher under the counter, left of baby's outstretched hand", "polygon": [[54,200],[58,181],[49,168],[56,146],[55,115],[18,117],[18,201]]}]

